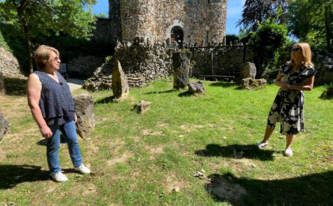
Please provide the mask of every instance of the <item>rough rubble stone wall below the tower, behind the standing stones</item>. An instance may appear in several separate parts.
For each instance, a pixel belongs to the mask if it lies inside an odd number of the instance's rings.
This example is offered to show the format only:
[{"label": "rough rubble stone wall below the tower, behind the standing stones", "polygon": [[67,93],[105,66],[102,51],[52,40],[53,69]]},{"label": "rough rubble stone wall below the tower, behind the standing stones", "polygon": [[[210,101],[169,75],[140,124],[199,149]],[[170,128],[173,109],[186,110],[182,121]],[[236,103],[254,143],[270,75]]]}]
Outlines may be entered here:
[{"label": "rough rubble stone wall below the tower, behind the standing stones", "polygon": [[[149,45],[136,39],[133,44],[119,43],[115,49],[113,61],[118,60],[126,74],[130,87],[141,87],[161,77],[172,76],[172,54],[177,47]],[[191,51],[191,50],[190,50]],[[243,64],[244,46],[215,49],[196,49],[194,76],[211,75],[211,51],[214,53],[214,75],[239,76],[239,66]],[[192,57],[191,57],[192,60]],[[250,50],[246,50],[246,61],[250,60]],[[113,63],[98,68],[89,78],[84,88],[89,90],[111,89]]]}]

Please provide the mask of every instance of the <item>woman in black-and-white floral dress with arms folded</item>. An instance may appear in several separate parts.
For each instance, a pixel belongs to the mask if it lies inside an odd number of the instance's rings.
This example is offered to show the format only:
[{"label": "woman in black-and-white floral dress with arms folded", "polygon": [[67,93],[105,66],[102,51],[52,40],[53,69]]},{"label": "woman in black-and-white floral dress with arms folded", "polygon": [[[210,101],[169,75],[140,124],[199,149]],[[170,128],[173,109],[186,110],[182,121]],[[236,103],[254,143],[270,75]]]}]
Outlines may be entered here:
[{"label": "woman in black-and-white floral dress with arms folded", "polygon": [[286,136],[285,156],[293,155],[291,142],[296,134],[304,132],[304,92],[313,88],[317,71],[311,62],[311,49],[307,43],[298,43],[291,49],[291,60],[282,65],[275,85],[280,86],[270,109],[264,138],[258,147],[268,145],[268,139],[280,122],[280,133]]}]

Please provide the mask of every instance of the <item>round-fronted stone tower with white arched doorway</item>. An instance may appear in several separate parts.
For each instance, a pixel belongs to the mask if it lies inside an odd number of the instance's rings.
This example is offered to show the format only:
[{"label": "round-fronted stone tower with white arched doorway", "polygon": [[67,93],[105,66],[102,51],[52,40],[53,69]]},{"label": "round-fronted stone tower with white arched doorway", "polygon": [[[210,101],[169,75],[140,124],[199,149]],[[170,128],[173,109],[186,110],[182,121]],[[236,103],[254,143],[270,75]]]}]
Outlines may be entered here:
[{"label": "round-fronted stone tower with white arched doorway", "polygon": [[223,42],[227,0],[109,0],[112,35],[132,42]]}]

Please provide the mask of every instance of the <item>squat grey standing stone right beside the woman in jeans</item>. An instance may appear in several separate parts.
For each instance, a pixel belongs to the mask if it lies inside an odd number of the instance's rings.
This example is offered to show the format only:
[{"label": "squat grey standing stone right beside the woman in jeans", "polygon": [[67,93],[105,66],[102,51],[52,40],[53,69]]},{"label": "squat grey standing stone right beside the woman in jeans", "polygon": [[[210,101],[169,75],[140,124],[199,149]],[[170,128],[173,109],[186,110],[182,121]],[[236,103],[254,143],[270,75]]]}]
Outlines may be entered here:
[{"label": "squat grey standing stone right beside the woman in jeans", "polygon": [[93,99],[90,94],[83,93],[73,97],[75,111],[78,116],[77,132],[82,138],[86,138],[94,129],[96,116],[93,112]]}]

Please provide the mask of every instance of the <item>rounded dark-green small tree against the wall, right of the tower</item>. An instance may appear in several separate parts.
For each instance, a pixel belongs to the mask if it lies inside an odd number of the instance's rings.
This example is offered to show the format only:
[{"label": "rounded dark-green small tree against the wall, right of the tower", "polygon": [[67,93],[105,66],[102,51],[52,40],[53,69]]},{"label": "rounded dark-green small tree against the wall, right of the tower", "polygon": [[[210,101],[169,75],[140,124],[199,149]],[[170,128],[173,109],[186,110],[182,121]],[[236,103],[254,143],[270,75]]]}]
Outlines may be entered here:
[{"label": "rounded dark-green small tree against the wall, right of the tower", "polygon": [[258,24],[258,30],[252,32],[250,37],[250,48],[257,68],[256,77],[261,77],[269,61],[274,59],[277,50],[283,47],[287,40],[286,26],[276,24],[274,19]]}]

